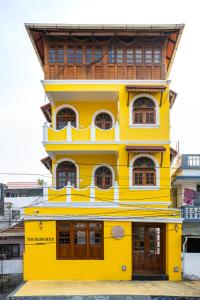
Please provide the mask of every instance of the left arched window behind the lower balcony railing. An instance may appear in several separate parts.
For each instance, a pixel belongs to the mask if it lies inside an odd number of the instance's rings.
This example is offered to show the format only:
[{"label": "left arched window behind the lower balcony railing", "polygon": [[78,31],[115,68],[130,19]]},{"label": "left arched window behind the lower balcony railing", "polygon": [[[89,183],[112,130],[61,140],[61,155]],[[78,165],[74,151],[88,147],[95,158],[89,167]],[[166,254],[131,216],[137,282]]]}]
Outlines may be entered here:
[{"label": "left arched window behind the lower balcony railing", "polygon": [[61,189],[70,182],[71,185],[76,187],[76,166],[69,162],[64,161],[57,166],[57,189]]}]

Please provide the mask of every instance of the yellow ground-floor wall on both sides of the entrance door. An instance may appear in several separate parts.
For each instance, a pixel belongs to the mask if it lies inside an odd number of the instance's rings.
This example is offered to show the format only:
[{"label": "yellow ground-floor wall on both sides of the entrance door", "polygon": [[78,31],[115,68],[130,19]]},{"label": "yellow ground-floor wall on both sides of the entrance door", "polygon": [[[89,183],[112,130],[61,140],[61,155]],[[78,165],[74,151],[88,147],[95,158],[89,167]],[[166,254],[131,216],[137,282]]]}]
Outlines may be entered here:
[{"label": "yellow ground-floor wall on both sides of the entrance door", "polygon": [[[114,239],[113,226],[122,226],[125,236]],[[175,224],[166,227],[166,275],[169,280],[181,279],[181,230],[174,230]],[[132,223],[120,221],[104,222],[103,260],[57,260],[56,221],[25,222],[24,280],[131,280],[132,272]],[[53,238],[53,241],[37,245],[35,238]],[[32,238],[33,241],[29,239]],[[38,243],[41,243],[39,241]],[[126,266],[126,271],[122,270]],[[174,268],[178,267],[178,272]]]}]

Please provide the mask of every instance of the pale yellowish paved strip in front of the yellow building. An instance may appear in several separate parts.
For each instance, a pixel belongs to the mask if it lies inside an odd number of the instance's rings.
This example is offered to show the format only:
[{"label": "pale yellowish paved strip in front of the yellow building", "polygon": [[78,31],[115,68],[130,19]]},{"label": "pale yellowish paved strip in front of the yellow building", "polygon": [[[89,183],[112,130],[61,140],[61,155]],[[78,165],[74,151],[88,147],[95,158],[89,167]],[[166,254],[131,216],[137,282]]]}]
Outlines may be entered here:
[{"label": "pale yellowish paved strip in front of the yellow building", "polygon": [[47,281],[26,282],[16,296],[162,295],[199,296],[200,281]]}]

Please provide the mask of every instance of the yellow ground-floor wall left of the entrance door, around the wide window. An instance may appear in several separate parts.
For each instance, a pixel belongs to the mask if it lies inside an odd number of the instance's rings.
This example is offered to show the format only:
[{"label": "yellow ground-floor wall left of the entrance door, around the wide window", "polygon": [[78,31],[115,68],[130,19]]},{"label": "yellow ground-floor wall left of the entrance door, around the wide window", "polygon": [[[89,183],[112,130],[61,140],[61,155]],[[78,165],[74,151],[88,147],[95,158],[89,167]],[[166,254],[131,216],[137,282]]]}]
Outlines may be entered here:
[{"label": "yellow ground-floor wall left of the entrance door, around the wide window", "polygon": [[[123,226],[125,236],[122,239],[111,237],[113,226]],[[43,229],[39,222],[25,224],[26,246],[24,254],[24,280],[130,280],[131,279],[131,223],[104,223],[104,260],[56,260],[56,244],[27,245],[33,243],[28,237],[53,237],[56,240],[55,221],[45,221]],[[30,259],[31,258],[31,259]],[[122,266],[127,266],[122,271]]]}]

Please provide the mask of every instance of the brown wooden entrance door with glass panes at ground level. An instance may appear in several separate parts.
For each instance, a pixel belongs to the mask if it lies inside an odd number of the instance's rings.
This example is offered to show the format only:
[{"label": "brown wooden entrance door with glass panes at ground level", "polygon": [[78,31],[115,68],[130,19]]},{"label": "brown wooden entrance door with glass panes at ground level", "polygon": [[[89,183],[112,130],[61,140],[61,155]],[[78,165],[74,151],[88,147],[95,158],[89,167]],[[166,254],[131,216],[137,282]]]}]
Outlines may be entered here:
[{"label": "brown wooden entrance door with glass panes at ground level", "polygon": [[164,273],[164,224],[133,224],[133,273]]}]

